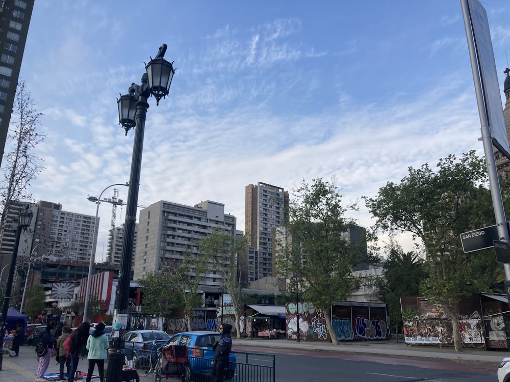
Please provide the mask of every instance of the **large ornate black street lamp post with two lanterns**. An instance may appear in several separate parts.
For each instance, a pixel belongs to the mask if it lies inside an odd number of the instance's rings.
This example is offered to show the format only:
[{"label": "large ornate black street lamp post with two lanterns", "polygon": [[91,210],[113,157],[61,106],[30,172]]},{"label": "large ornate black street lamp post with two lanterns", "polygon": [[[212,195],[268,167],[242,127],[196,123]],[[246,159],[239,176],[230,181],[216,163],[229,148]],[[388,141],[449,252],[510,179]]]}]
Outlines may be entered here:
[{"label": "large ornate black street lamp post with two lanterns", "polygon": [[113,316],[114,333],[112,346],[108,349],[107,382],[118,382],[122,374],[124,363],[124,335],[128,321],[128,299],[131,275],[131,261],[133,258],[133,241],[135,236],[136,208],[138,204],[138,188],[140,185],[140,168],[142,164],[143,133],[145,119],[149,104],[147,99],[153,95],[156,104],[165,98],[170,91],[170,85],[175,73],[173,62],[164,59],[167,45],[160,46],[158,54],[150,59],[145,66],[141,85],[131,84],[128,94],[121,95],[117,100],[119,108],[119,123],[124,127],[125,133],[135,128],[133,143],[133,156],[131,159],[131,175],[129,192],[127,194],[126,215],[124,222],[124,237],[122,240],[122,257],[120,261],[119,281],[117,285],[117,298]]}]

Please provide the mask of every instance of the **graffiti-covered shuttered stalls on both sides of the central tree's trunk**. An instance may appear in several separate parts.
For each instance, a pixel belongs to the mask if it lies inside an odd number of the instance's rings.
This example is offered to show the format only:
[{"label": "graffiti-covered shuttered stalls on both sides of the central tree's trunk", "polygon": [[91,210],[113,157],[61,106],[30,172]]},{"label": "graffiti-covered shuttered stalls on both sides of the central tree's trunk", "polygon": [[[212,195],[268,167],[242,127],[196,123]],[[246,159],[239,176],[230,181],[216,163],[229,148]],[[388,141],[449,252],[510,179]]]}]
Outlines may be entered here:
[{"label": "graffiti-covered shuttered stalls on both sides of the central tree's trunk", "polygon": [[[301,341],[330,341],[324,312],[312,303],[300,302]],[[296,303],[286,306],[287,339],[297,337]],[[331,307],[331,325],[340,341],[381,340],[390,336],[386,304],[336,302]]]}]

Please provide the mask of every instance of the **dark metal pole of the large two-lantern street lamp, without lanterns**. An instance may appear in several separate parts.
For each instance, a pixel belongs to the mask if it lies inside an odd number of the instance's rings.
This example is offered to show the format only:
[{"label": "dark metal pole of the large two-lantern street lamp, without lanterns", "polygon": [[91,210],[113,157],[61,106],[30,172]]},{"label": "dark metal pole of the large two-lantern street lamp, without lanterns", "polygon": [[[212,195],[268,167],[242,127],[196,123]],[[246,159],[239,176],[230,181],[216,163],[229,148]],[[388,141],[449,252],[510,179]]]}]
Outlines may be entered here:
[{"label": "dark metal pole of the large two-lantern street lamp, without lanterns", "polygon": [[136,210],[138,205],[138,190],[140,186],[140,169],[142,166],[143,134],[145,119],[150,96],[148,87],[143,84],[136,103],[136,128],[135,141],[133,143],[133,156],[131,159],[131,175],[129,192],[127,194],[127,206],[124,222],[124,237],[122,240],[122,258],[120,261],[119,281],[117,285],[117,298],[115,299],[115,311],[113,322],[121,322],[119,336],[114,337],[111,348],[108,349],[107,382],[117,382],[122,374],[124,364],[124,335],[128,322],[129,285],[131,280],[131,261],[133,259],[133,242],[135,238]]}]

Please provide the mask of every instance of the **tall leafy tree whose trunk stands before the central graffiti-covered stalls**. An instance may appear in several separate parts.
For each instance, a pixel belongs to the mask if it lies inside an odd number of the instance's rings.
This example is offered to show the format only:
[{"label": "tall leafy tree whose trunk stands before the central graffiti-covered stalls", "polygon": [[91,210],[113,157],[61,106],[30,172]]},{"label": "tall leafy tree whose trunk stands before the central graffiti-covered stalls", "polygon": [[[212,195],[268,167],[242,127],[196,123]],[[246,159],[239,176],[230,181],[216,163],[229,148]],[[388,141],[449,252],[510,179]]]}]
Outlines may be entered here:
[{"label": "tall leafy tree whose trunk stands before the central graffiti-covered stalls", "polygon": [[[355,225],[342,206],[335,179],[302,181],[293,189],[289,205],[290,222],[286,224],[292,240],[278,242],[276,271],[279,277],[290,279],[291,290],[324,311],[331,341],[338,339],[331,325],[331,305],[347,298],[355,285],[352,268],[362,262],[373,262],[366,253],[366,241],[350,242],[347,232]],[[302,282],[301,282],[302,281]]]}]

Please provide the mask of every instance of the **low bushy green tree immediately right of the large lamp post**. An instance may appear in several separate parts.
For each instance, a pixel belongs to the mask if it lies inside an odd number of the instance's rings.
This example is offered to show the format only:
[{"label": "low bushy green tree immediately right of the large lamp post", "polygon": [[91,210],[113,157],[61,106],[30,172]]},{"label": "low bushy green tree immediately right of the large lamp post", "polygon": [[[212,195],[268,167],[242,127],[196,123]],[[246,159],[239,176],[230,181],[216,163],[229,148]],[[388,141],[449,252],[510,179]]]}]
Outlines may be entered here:
[{"label": "low bushy green tree immediately right of the large lamp post", "polygon": [[142,291],[142,309],[145,313],[169,318],[172,309],[182,306],[180,295],[172,291],[169,273],[148,273],[138,280]]}]

